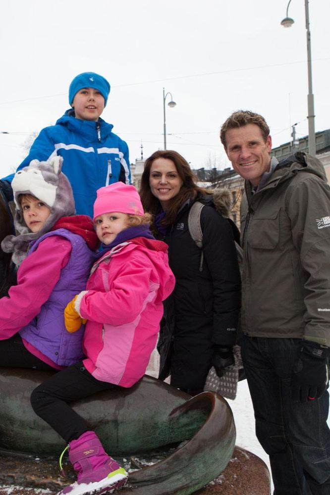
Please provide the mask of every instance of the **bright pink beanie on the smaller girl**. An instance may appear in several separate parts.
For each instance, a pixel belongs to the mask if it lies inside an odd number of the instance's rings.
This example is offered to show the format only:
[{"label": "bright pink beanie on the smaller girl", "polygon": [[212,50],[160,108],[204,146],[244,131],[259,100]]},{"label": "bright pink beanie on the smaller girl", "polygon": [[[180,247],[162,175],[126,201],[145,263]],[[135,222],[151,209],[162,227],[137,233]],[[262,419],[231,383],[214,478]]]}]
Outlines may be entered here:
[{"label": "bright pink beanie on the smaller girl", "polygon": [[111,213],[112,211],[140,216],[144,214],[139,193],[134,186],[129,186],[123,182],[115,182],[110,186],[98,189],[96,194],[93,220],[104,213]]}]

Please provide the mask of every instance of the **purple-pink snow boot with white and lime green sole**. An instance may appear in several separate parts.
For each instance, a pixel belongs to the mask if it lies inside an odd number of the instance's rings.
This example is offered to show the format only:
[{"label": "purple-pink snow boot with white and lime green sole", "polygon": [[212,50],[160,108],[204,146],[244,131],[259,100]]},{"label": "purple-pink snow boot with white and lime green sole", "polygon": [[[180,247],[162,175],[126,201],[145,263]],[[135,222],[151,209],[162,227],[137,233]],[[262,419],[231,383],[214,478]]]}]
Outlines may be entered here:
[{"label": "purple-pink snow boot with white and lime green sole", "polygon": [[83,433],[69,443],[69,460],[77,472],[77,481],[57,495],[99,495],[112,493],[125,485],[128,474],[106,454],[94,432]]}]

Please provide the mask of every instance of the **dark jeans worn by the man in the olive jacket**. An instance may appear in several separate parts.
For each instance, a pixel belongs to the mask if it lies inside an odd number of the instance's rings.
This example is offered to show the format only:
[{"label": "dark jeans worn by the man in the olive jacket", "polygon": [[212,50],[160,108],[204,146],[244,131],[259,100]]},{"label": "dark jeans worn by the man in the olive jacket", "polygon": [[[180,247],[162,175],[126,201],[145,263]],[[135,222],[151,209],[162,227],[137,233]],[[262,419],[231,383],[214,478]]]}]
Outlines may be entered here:
[{"label": "dark jeans worn by the man in the olive jacket", "polygon": [[306,404],[291,399],[299,339],[244,336],[242,358],[256,435],[270,456],[275,495],[330,494],[329,394]]}]

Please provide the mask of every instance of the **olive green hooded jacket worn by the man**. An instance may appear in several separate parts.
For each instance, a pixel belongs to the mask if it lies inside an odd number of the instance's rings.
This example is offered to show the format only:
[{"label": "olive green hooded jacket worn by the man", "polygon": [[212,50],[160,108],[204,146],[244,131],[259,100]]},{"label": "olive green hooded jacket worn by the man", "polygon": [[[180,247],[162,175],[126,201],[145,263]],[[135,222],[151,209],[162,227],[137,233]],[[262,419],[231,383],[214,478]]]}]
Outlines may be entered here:
[{"label": "olive green hooded jacket worn by the man", "polygon": [[242,330],[330,346],[330,188],[321,162],[298,152],[241,205]]}]

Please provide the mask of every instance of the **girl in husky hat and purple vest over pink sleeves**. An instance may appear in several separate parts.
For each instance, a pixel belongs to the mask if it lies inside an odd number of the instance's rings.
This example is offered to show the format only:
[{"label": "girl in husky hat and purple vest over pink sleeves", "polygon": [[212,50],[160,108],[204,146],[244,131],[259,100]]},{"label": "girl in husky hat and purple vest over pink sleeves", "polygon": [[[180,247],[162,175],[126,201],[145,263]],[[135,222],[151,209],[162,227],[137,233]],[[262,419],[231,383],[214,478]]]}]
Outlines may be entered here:
[{"label": "girl in husky hat and purple vest over pink sleeves", "polygon": [[63,310],[86,286],[98,239],[91,218],[74,215],[62,161],[36,160],[12,181],[17,235],[1,247],[19,268],[0,298],[1,366],[61,370],[83,356],[84,328],[68,334]]}]

